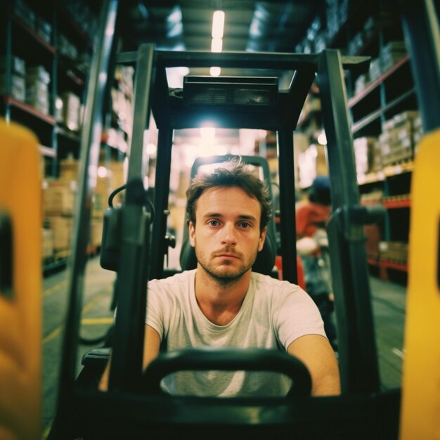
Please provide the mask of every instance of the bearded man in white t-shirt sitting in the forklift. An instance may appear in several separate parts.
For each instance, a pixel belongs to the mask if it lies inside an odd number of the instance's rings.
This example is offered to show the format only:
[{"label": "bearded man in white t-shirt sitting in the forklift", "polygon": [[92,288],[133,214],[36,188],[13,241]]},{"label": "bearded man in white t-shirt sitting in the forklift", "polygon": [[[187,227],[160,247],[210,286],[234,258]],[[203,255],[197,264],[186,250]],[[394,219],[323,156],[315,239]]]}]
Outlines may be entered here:
[{"label": "bearded man in white t-shirt sitting in the forklift", "polygon": [[[143,363],[166,346],[280,349],[304,362],[312,394],[339,394],[335,354],[311,298],[300,287],[252,273],[271,215],[264,183],[240,161],[197,176],[187,191],[190,244],[198,266],[148,283]],[[105,389],[106,374],[101,382]],[[278,373],[180,372],[162,380],[171,394],[282,396]]]}]

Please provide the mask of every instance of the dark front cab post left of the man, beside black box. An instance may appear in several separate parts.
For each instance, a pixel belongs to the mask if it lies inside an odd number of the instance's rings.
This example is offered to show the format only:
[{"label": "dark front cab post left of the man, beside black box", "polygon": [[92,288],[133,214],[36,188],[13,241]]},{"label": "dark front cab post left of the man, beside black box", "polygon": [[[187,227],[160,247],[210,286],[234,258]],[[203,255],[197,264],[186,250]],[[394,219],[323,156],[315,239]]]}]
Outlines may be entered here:
[{"label": "dark front cab post left of the man, beside black box", "polygon": [[154,48],[136,56],[133,134],[125,205],[121,208],[121,250],[117,269],[117,316],[109,387],[136,389],[142,374],[143,330],[148,280],[150,214],[145,212],[144,131],[150,118]]}]

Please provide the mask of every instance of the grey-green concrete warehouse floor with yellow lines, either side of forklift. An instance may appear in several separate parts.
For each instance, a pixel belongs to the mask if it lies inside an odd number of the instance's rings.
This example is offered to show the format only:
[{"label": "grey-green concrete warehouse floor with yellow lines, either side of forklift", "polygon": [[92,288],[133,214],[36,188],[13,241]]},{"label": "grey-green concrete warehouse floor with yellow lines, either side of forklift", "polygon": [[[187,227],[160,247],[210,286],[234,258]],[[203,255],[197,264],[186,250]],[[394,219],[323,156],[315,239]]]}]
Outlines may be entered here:
[{"label": "grey-green concrete warehouse floor with yellow lines, either side of forklift", "polygon": [[[44,278],[42,440],[48,436],[55,415],[67,306],[67,275],[67,270],[63,270]],[[112,325],[110,304],[114,280],[115,273],[99,266],[99,257],[89,259],[84,278],[80,330],[82,338],[94,339],[105,335]],[[392,389],[401,383],[406,287],[373,276],[370,285],[382,387]],[[96,346],[83,344],[79,347],[77,373],[81,368],[83,354],[93,347]]]}]

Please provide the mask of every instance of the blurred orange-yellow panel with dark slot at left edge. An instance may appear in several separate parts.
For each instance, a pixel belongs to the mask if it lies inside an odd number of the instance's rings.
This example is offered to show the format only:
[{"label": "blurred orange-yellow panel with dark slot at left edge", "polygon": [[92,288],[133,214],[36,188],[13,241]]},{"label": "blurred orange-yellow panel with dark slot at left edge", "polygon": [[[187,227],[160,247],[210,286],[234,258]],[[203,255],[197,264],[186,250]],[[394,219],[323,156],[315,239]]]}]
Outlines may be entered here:
[{"label": "blurred orange-yellow panel with dark slot at left edge", "polygon": [[0,119],[0,437],[37,439],[41,418],[41,157]]}]

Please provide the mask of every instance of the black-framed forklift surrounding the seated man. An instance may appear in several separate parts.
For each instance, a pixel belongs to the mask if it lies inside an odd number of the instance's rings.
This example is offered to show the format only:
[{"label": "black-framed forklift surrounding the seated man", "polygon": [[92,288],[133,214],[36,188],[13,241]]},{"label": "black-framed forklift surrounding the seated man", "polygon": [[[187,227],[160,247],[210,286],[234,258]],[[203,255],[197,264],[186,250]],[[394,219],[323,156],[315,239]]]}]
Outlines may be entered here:
[{"label": "black-framed forklift surrounding the seated man", "polygon": [[[440,349],[440,207],[436,198],[431,197],[427,209],[427,187],[432,188],[432,182],[438,179],[434,158],[438,155],[435,148],[440,134],[434,130],[439,126],[437,115],[440,115],[440,38],[438,23],[431,19],[432,1],[424,1],[419,8],[410,1],[402,1],[401,7],[427,133],[420,144],[412,189],[403,394],[401,389],[383,391],[380,387],[363,228],[379,221],[383,212],[359,203],[344,84],[344,71],[365,72],[369,59],[342,56],[335,49],[312,54],[209,53],[158,51],[151,44],[143,44],[135,52],[116,53],[113,31],[117,28],[119,4],[117,0],[105,0],[82,131],[75,238],[70,261],[70,302],[51,439],[172,439],[178,436],[224,439],[225,436],[247,438],[252,435],[278,439],[388,440],[398,439],[399,435],[402,440],[434,439],[438,424],[432,408],[439,406],[440,393],[433,393],[432,387],[439,369],[429,366],[433,363],[427,358],[434,361]],[[423,67],[427,60],[432,63],[432,70]],[[109,390],[100,392],[77,379],[76,363],[86,264],[84,231],[89,225],[101,143],[103,78],[111,77],[115,64],[135,67],[134,124],[124,204],[110,207],[105,219],[101,264],[117,273],[118,313],[112,340]],[[245,74],[223,78],[188,76],[183,89],[169,88],[167,68],[211,65],[233,67]],[[271,72],[270,75],[267,72]],[[293,72],[289,86],[280,89],[280,78],[286,72]],[[163,261],[170,245],[167,211],[173,131],[200,127],[207,115],[224,128],[276,131],[283,279],[297,283],[295,204],[292,203],[293,132],[314,81],[320,91],[328,139],[332,216],[327,231],[342,394],[311,397],[309,373],[301,361],[271,351],[221,349],[216,353],[191,349],[172,356],[165,353],[153,361],[151,369],[143,372],[148,280],[167,276]],[[143,136],[150,115],[159,131],[154,200],[148,199],[143,186],[146,163]],[[412,257],[418,252],[424,252],[427,258],[420,261]],[[428,265],[425,264],[427,259]],[[421,327],[426,329],[422,332],[423,339],[420,338]],[[84,357],[80,377],[99,375],[108,357],[108,350],[91,351]],[[160,380],[166,374],[183,369],[214,368],[286,373],[294,385],[287,396],[280,398],[165,396],[159,391]],[[420,386],[421,376],[429,378],[426,387]]]}]

